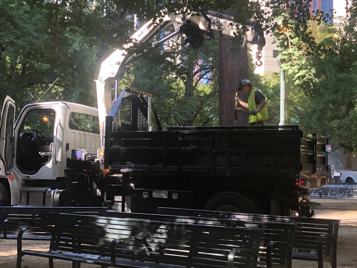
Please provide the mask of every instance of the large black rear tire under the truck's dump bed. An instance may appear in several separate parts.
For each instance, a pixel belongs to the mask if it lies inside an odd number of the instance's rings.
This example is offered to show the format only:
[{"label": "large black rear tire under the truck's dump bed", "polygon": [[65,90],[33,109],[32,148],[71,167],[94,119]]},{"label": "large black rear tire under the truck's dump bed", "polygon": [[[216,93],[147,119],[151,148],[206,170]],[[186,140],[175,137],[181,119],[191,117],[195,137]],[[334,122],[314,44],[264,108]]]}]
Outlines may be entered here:
[{"label": "large black rear tire under the truck's dump bed", "polygon": [[240,213],[259,213],[257,206],[250,198],[236,192],[224,192],[213,195],[213,197],[207,201],[203,209]]}]

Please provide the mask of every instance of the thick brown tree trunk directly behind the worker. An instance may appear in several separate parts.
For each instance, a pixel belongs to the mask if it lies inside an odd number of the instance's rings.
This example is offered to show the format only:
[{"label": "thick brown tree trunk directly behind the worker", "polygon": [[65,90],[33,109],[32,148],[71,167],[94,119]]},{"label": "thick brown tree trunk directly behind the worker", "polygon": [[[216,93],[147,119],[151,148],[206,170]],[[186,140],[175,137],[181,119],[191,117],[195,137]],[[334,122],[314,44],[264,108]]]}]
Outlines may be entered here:
[{"label": "thick brown tree trunk directly behind the worker", "polygon": [[[223,14],[233,16],[235,9],[227,9]],[[220,37],[220,65],[218,72],[219,87],[219,109],[220,109],[220,126],[235,125],[234,118],[234,96],[237,92],[240,81],[249,79],[248,77],[248,55],[247,47],[230,51],[232,41],[226,37]],[[239,92],[240,98],[247,102],[248,95]],[[240,106],[240,105],[238,105]],[[242,106],[240,106],[242,107]],[[238,111],[237,125],[247,125],[248,114]]]}]

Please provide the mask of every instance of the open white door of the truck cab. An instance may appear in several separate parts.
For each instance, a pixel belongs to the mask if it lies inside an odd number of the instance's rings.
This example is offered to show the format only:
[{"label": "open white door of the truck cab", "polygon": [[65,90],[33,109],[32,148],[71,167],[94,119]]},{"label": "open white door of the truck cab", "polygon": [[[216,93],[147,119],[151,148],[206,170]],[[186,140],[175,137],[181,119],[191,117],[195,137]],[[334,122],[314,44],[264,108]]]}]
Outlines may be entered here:
[{"label": "open white door of the truck cab", "polygon": [[0,176],[10,174],[15,158],[15,101],[6,96],[0,118]]}]

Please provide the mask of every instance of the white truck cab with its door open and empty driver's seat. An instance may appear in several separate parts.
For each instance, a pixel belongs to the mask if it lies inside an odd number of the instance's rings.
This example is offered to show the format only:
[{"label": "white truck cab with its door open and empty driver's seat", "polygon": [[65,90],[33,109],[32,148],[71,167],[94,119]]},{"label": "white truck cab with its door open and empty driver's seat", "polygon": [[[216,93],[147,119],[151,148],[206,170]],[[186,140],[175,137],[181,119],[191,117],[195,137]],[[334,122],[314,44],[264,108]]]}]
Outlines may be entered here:
[{"label": "white truck cab with its door open and empty driver's seat", "polygon": [[100,147],[98,111],[64,101],[43,102],[26,105],[16,123],[14,117],[15,102],[6,97],[1,114],[0,175],[7,177],[2,184],[11,195],[11,205],[55,205],[51,198],[44,204],[43,196],[59,195],[65,189],[64,170],[72,151],[83,149],[87,154],[77,158],[89,158]]}]

